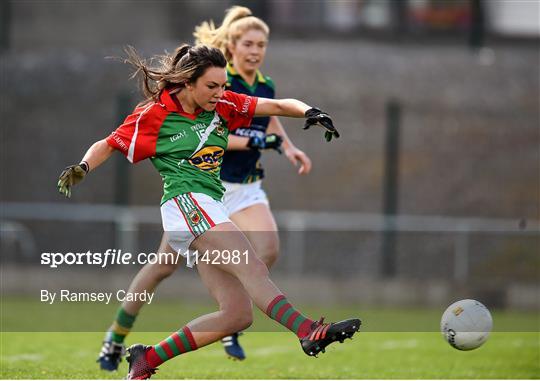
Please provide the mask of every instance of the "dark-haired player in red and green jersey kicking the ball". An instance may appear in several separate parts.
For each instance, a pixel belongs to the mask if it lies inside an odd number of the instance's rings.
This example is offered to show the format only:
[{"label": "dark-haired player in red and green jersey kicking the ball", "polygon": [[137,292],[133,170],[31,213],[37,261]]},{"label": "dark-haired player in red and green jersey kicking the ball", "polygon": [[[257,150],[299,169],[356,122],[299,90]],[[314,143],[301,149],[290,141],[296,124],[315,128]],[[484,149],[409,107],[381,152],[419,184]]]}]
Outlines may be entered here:
[{"label": "dark-haired player in red and green jersey kicking the ball", "polygon": [[[161,215],[168,243],[179,253],[188,249],[208,253],[210,261],[199,262],[197,267],[220,305],[219,311],[192,320],[160,343],[131,346],[128,379],[149,378],[165,361],[247,328],[252,322],[252,302],[296,334],[307,355],[352,337],[360,328],[359,319],[323,323],[304,316],[288,302],[221,202],[224,188],[219,172],[229,131],[249,125],[254,116],[305,116],[305,128],[321,125],[331,140],[339,134],[329,115],[295,99],[226,91],[227,62],[217,48],[184,45],[162,57],[159,68],[148,67],[133,50],[128,61],[143,76],[146,101],[108,138],[94,143],[80,164],[63,171],[59,191],[70,195],[72,186],[115,150],[132,163],[150,159],[163,179]],[[246,253],[245,258],[220,261],[225,250]]]}]

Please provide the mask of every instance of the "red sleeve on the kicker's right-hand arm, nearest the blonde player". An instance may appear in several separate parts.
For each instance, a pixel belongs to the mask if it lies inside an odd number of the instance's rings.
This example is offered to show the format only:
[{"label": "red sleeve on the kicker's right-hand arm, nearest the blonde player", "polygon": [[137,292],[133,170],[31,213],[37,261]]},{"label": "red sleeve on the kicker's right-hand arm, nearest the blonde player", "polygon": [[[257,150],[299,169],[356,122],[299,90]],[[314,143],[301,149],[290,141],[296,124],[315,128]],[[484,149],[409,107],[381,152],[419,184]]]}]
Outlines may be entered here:
[{"label": "red sleeve on the kicker's right-hand arm, nearest the blonde player", "polygon": [[255,114],[259,98],[225,91],[216,107],[217,112],[227,121],[230,131],[238,127],[249,127]]}]

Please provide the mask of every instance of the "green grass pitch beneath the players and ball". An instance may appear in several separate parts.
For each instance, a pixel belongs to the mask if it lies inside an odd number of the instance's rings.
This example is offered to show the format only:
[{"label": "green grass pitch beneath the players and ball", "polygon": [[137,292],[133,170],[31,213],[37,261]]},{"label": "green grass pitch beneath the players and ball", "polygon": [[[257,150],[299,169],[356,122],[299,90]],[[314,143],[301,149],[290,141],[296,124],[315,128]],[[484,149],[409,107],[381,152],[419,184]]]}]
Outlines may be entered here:
[{"label": "green grass pitch beneath the players and ball", "polygon": [[[95,362],[99,352],[102,332],[13,332],[28,327],[32,321],[52,318],[34,314],[22,316],[30,304],[21,300],[3,301],[2,333],[0,342],[0,376],[9,379],[120,379],[125,377],[127,365],[122,362],[120,371],[102,372]],[[82,308],[83,305],[80,305]],[[97,304],[92,303],[97,307]],[[9,307],[9,308],[6,308]],[[14,319],[16,310],[21,322]],[[70,307],[71,308],[71,307]],[[90,314],[99,316],[99,324],[106,327],[115,307],[110,306]],[[176,312],[188,315],[210,311],[203,305],[180,305],[165,303],[146,307],[136,323],[136,331],[128,337],[128,344],[156,343],[170,332],[142,332],[149,327],[161,329],[178,319]],[[315,316],[315,308],[309,309]],[[348,317],[357,308],[332,308],[330,320]],[[79,316],[81,310],[79,310]],[[165,313],[166,318],[162,315]],[[101,315],[105,316],[101,316]],[[173,316],[171,318],[171,315]],[[537,314],[508,312],[494,313],[495,327],[490,339],[481,348],[461,352],[444,342],[437,329],[439,311],[421,309],[369,309],[358,314],[362,317],[365,331],[344,344],[333,344],[319,358],[303,354],[298,341],[287,332],[262,332],[266,328],[275,331],[272,322],[262,321],[256,331],[250,330],[241,337],[248,359],[233,362],[225,357],[221,345],[213,344],[196,352],[182,355],[163,364],[156,379],[494,379],[494,378],[540,378],[540,336]],[[184,316],[182,316],[184,318]],[[24,323],[28,319],[27,323]],[[84,316],[81,321],[89,318]],[[101,320],[102,319],[102,320]],[[60,326],[67,323],[65,316],[56,315]],[[164,321],[163,321],[164,320]],[[170,321],[169,321],[170,320]],[[183,322],[182,319],[178,321]],[[394,326],[391,326],[391,322]],[[415,327],[424,332],[388,332],[380,328]],[[399,323],[401,322],[401,323]],[[48,323],[51,323],[50,321]],[[46,324],[46,322],[45,322]],[[416,324],[416,325],[415,325]],[[66,324],[69,326],[70,324]],[[180,324],[177,324],[180,325]],[[533,332],[501,332],[503,327]],[[52,328],[52,326],[50,327]],[[138,329],[138,331],[137,331]],[[60,330],[60,329],[58,329]],[[97,331],[97,330],[96,330]]]}]

